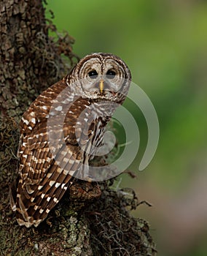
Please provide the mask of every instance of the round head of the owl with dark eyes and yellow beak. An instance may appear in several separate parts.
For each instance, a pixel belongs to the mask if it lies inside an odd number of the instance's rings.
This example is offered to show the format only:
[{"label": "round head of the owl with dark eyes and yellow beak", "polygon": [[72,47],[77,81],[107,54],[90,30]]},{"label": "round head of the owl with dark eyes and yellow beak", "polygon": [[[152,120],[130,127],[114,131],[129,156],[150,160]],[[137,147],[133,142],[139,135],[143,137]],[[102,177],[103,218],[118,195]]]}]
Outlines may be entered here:
[{"label": "round head of the owl with dark eyes and yellow beak", "polygon": [[111,53],[93,53],[79,61],[66,82],[69,86],[74,83],[76,92],[94,102],[122,103],[130,80],[130,70],[122,59]]}]

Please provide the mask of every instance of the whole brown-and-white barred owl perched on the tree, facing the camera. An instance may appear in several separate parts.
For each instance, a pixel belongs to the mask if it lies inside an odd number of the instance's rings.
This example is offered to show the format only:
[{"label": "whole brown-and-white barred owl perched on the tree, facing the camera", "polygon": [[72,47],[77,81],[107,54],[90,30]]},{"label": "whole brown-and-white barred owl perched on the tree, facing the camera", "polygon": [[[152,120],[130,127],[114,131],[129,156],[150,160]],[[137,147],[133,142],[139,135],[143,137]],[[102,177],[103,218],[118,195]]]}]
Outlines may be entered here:
[{"label": "whole brown-and-white barred owl perched on the tree, facing the camera", "polygon": [[104,127],[117,108],[111,103],[122,104],[130,78],[119,57],[93,53],[26,110],[20,121],[17,189],[10,192],[19,225],[38,226],[75,174],[87,177],[94,148],[103,144]]}]

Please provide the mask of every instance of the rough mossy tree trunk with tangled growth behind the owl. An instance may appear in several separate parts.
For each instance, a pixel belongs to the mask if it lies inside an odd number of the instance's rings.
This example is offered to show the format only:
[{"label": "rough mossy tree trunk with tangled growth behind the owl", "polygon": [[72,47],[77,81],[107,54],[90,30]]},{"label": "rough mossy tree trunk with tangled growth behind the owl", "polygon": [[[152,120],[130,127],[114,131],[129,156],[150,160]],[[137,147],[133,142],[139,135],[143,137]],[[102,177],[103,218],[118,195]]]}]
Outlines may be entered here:
[{"label": "rough mossy tree trunk with tangled growth behind the owl", "polygon": [[136,196],[107,183],[77,181],[39,227],[17,225],[8,194],[17,176],[18,122],[77,56],[74,40],[46,21],[41,0],[1,0],[0,23],[0,255],[156,255],[147,222],[126,210],[136,208]]}]

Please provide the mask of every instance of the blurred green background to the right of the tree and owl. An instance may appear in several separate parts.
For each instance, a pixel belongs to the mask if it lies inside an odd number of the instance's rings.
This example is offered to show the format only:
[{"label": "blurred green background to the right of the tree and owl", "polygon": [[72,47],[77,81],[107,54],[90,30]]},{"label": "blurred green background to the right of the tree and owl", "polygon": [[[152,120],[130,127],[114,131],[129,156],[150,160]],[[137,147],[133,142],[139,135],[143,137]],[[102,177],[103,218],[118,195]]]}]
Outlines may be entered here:
[{"label": "blurred green background to the right of the tree and owl", "polygon": [[151,224],[160,256],[207,255],[207,1],[48,0],[58,31],[76,40],[74,53],[120,56],[133,82],[152,100],[160,121],[154,159],[138,163],[147,142],[144,116],[130,102],[141,151],[120,187],[133,187],[140,206],[133,214]]}]

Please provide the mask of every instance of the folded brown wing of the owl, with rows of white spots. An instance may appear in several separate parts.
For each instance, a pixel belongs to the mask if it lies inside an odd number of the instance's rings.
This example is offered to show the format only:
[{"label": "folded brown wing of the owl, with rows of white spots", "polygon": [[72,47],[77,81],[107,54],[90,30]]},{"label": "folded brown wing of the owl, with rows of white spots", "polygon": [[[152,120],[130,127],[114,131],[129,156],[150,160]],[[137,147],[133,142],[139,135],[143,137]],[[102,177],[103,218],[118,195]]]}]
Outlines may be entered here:
[{"label": "folded brown wing of the owl, with rows of white spots", "polygon": [[[74,115],[64,132],[70,136],[66,143],[58,143],[54,156],[47,138],[47,102],[42,105],[44,93],[23,115],[18,157],[20,178],[17,185],[16,215],[19,225],[39,225],[58,203],[81,165],[82,154],[74,139]],[[39,108],[39,111],[34,111]],[[74,107],[75,108],[75,107]],[[57,108],[59,111],[60,108]],[[55,127],[53,127],[55,129]],[[13,208],[14,209],[14,208]]]}]

